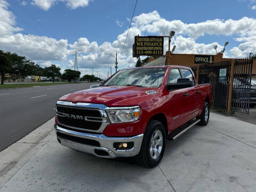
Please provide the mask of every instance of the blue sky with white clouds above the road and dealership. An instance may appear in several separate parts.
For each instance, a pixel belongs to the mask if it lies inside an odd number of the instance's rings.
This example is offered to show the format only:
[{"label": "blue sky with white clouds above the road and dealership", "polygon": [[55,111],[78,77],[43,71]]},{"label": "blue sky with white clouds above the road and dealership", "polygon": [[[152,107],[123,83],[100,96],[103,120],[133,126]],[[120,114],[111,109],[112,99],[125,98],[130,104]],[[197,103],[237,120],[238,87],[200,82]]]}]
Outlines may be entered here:
[{"label": "blue sky with white clouds above the road and dealership", "polygon": [[[94,67],[94,75],[104,77],[114,67],[114,57],[104,53],[122,50],[134,5],[135,0],[0,0],[0,49],[42,66],[57,64],[62,71],[72,68],[77,49],[82,74]],[[119,68],[136,62],[131,57],[134,35],[170,30],[176,31],[176,53],[213,54],[213,45],[220,51],[229,41],[225,57],[246,57],[256,52],[255,5],[254,0],[138,0]]]}]

